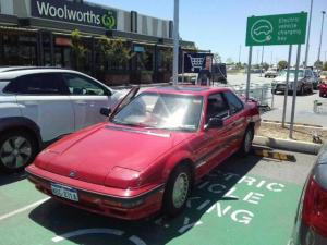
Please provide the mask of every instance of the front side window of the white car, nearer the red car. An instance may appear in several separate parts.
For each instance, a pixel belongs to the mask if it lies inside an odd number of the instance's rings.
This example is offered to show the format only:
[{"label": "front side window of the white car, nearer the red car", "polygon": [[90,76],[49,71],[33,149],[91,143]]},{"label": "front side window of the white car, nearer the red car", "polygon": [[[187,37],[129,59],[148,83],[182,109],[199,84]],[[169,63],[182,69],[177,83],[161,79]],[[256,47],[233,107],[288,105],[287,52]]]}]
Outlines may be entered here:
[{"label": "front side window of the white car, nearer the red car", "polygon": [[71,95],[78,96],[104,96],[108,95],[108,91],[105,90],[100,85],[96,84],[94,81],[77,75],[65,73],[62,75],[63,79],[69,87]]}]

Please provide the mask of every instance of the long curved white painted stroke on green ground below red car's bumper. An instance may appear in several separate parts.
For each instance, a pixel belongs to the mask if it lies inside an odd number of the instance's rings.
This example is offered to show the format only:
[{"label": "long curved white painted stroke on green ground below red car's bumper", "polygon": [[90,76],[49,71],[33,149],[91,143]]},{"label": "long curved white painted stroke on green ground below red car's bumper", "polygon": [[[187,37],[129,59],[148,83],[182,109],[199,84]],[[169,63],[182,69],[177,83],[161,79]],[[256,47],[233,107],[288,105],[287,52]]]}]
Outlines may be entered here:
[{"label": "long curved white painted stroke on green ground below red car's bumper", "polygon": [[73,232],[68,232],[62,235],[58,235],[52,238],[53,243],[59,243],[63,240],[80,236],[80,235],[87,235],[87,234],[110,234],[110,235],[123,235],[124,232],[121,230],[116,230],[116,229],[99,229],[99,228],[94,228],[94,229],[83,229],[83,230],[77,230]]}]

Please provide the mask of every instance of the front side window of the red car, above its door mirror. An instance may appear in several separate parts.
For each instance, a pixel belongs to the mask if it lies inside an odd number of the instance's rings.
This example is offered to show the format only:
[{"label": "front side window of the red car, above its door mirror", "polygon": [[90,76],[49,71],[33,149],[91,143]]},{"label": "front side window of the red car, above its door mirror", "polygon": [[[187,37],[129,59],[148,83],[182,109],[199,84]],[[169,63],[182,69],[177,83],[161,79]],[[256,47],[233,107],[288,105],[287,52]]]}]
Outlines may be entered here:
[{"label": "front side window of the red car, above its door mirror", "polygon": [[210,95],[207,100],[206,124],[210,118],[223,119],[228,117],[229,107],[221,93]]}]

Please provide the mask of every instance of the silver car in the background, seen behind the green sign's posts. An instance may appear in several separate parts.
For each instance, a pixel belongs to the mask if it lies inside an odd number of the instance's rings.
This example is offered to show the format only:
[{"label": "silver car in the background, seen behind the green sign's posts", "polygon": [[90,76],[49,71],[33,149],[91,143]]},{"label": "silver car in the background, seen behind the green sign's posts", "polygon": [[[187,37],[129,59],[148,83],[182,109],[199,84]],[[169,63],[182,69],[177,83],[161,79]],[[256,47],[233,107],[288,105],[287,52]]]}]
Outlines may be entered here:
[{"label": "silver car in the background, seen behind the green sign's posts", "polygon": [[[295,79],[295,70],[290,70],[290,77],[288,90],[293,91],[293,84]],[[287,71],[283,70],[271,83],[271,93],[284,91],[287,81]],[[296,93],[304,95],[305,93],[313,93],[314,74],[311,69],[299,70]]]}]

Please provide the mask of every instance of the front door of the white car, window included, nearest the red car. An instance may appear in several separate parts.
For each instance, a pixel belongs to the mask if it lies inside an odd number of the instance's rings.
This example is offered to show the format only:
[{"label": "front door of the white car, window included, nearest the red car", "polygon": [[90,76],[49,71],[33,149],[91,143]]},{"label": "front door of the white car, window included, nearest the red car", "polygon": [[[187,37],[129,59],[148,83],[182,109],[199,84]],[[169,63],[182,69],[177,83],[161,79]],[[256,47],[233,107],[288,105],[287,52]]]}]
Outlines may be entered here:
[{"label": "front door of the white car, window included, nearest the red car", "polygon": [[81,74],[63,73],[62,76],[74,108],[75,131],[104,122],[106,117],[99,112],[101,108],[110,108],[110,90]]}]

